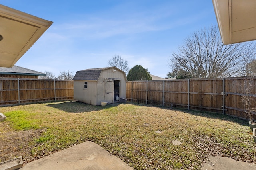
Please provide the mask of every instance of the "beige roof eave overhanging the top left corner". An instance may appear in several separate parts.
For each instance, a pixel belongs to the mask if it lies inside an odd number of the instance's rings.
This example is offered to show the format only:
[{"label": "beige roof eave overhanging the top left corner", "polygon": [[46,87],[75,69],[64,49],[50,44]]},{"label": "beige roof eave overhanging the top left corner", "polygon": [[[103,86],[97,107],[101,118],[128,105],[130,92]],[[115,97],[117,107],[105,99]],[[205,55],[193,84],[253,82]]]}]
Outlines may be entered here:
[{"label": "beige roof eave overhanging the top left corner", "polygon": [[12,67],[52,25],[0,4],[0,67]]}]

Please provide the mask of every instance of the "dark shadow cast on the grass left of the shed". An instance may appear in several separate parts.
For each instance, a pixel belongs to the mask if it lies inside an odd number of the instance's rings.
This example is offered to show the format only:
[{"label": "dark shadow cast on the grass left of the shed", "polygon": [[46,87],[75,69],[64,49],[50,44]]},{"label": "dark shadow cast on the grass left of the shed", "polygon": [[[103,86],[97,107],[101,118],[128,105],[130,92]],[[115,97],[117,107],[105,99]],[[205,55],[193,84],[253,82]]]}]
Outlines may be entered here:
[{"label": "dark shadow cast on the grass left of the shed", "polygon": [[84,113],[84,112],[104,110],[117,105],[118,104],[108,104],[106,106],[92,106],[90,104],[85,104],[78,101],[67,101],[67,102],[61,102],[61,103],[51,103],[51,104],[47,104],[46,106],[53,107],[55,109],[59,109],[68,113]]}]

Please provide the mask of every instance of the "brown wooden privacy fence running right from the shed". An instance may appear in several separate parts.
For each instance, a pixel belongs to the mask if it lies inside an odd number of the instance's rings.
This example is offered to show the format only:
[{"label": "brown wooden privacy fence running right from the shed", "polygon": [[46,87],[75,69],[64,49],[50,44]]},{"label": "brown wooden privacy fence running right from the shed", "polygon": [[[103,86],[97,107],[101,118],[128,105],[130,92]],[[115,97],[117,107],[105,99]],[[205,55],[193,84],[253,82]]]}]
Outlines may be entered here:
[{"label": "brown wooden privacy fence running right from the shed", "polygon": [[247,94],[248,85],[253,106],[256,104],[256,77],[128,81],[126,98],[155,106],[186,107],[248,119],[241,98]]}]

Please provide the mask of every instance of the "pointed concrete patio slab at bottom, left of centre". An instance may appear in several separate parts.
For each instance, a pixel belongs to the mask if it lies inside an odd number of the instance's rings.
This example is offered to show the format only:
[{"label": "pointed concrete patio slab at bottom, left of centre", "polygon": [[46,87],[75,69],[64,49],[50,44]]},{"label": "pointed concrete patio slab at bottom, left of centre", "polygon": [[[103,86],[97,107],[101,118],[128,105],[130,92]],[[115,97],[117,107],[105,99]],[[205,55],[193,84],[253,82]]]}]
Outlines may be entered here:
[{"label": "pointed concrete patio slab at bottom, left of centre", "polygon": [[25,164],[20,170],[133,170],[94,142],[87,141]]}]

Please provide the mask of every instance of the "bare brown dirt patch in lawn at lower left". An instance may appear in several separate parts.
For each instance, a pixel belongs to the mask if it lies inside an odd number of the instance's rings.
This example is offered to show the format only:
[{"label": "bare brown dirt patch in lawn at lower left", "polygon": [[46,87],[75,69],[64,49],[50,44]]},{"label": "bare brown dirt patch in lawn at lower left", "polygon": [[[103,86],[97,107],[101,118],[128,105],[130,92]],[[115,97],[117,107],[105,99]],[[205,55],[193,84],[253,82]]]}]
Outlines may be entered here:
[{"label": "bare brown dirt patch in lawn at lower left", "polygon": [[22,156],[24,162],[28,155],[31,155],[31,146],[29,145],[33,139],[42,135],[46,129],[36,129],[28,131],[9,131],[0,133],[0,162],[10,160],[17,156]]}]

